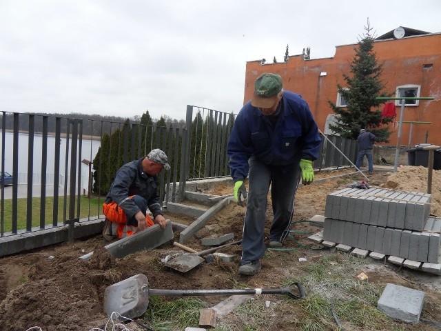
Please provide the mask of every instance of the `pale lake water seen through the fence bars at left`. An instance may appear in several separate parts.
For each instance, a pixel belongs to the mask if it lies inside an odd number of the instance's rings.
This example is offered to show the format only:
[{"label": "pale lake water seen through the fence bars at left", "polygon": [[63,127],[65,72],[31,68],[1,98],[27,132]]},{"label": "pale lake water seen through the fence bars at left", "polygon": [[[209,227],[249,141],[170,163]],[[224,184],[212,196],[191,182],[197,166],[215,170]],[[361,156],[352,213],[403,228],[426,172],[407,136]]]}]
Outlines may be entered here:
[{"label": "pale lake water seen through the fence bars at left", "polygon": [[[12,174],[12,155],[13,155],[13,134],[11,132],[5,133],[5,172]],[[26,184],[28,181],[28,139],[27,133],[19,134],[19,164],[17,176],[19,184]],[[0,130],[0,146],[2,146],[3,139],[1,137]],[[47,148],[47,163],[46,163],[46,181],[48,184],[54,183],[54,164],[55,164],[55,137],[48,137]],[[65,152],[66,152],[66,139],[61,138],[58,142],[60,144],[60,185],[64,185],[65,181]],[[87,159],[93,161],[96,156],[96,152],[100,147],[99,140],[83,139],[81,156],[78,156],[79,161]],[[41,134],[34,134],[34,156],[33,156],[33,183],[41,183],[41,158],[42,158],[42,145],[43,137]],[[68,177],[70,175],[70,153],[71,153],[71,141],[69,140],[69,159],[68,159]],[[79,151],[79,148],[77,149]],[[3,157],[0,148],[0,157]],[[1,167],[1,164],[0,164]],[[1,169],[0,169],[1,170]],[[77,168],[78,173],[78,168]],[[81,183],[83,188],[88,188],[88,176],[89,166],[81,163]],[[69,179],[68,179],[69,181]]]}]

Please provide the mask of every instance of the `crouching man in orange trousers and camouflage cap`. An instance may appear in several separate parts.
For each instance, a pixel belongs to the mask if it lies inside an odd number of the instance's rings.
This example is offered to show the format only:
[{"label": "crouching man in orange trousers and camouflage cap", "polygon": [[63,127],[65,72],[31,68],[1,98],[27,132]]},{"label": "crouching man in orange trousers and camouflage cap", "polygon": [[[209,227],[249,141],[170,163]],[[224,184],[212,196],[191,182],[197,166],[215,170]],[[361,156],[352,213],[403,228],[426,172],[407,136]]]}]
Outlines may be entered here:
[{"label": "crouching man in orange trousers and camouflage cap", "polygon": [[[147,157],[119,168],[103,203],[103,237],[106,240],[131,236],[154,223],[165,230],[167,221],[161,210],[157,176],[163,169],[169,170],[170,165],[165,152],[157,148]],[[153,220],[147,215],[147,207]]]}]

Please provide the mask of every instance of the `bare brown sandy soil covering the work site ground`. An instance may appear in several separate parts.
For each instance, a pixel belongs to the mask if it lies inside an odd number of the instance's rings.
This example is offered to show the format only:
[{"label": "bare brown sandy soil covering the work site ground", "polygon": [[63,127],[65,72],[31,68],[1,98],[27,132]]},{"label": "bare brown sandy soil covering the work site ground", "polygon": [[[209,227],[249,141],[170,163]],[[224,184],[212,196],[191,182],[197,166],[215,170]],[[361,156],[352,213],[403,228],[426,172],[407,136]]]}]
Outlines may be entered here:
[{"label": "bare brown sandy soil covering the work site ground", "polygon": [[[347,170],[348,171],[348,170]],[[316,178],[334,177],[341,172],[322,172]],[[425,176],[425,177],[424,177]],[[294,222],[304,221],[315,214],[324,214],[325,199],[329,192],[344,188],[360,175],[331,179],[321,183],[302,186],[296,195]],[[422,167],[400,168],[396,174],[374,172],[369,176],[373,186],[395,188],[398,190],[427,190],[427,169]],[[440,216],[441,173],[433,173],[432,214]],[[232,188],[218,185],[212,192],[219,195],[229,194]],[[267,217],[271,219],[271,201],[267,208]],[[234,238],[242,235],[245,208],[230,203],[216,214],[207,226],[200,230],[187,245],[195,250],[203,250],[199,239],[212,234],[234,232]],[[174,221],[176,215],[169,215]],[[188,223],[186,218],[183,223]],[[266,234],[269,232],[267,222]],[[307,222],[294,223],[293,229],[318,232]],[[174,239],[178,241],[178,232]],[[296,238],[298,242],[311,246],[307,236]],[[266,239],[267,240],[267,239]],[[263,269],[254,277],[243,277],[237,273],[240,258],[240,246],[232,245],[219,250],[233,254],[235,261],[225,263],[202,263],[194,270],[186,273],[166,268],[161,257],[168,252],[178,250],[172,241],[150,252],[139,252],[125,259],[114,259],[103,248],[107,242],[99,237],[76,241],[73,245],[60,244],[48,248],[34,250],[25,254],[17,254],[0,259],[0,329],[28,330],[39,326],[43,331],[64,330],[104,330],[107,317],[103,312],[103,294],[108,285],[143,273],[149,280],[150,288],[158,289],[223,289],[232,288],[234,283],[246,284],[250,288],[279,287],[283,279],[301,272],[297,257],[307,257],[308,263],[314,263],[314,250],[302,250],[296,253],[271,252],[270,259],[263,259]],[[297,247],[295,241],[285,241],[286,247]],[[90,261],[83,262],[79,257],[94,251]],[[320,254],[332,254],[322,250]],[[52,258],[53,257],[53,258]],[[369,259],[367,265],[376,265],[370,270],[370,281],[384,285],[388,282],[424,290],[427,294],[423,315],[437,320],[441,315],[440,277],[433,277],[422,272],[398,268],[384,268],[382,263]],[[203,297],[207,307],[215,305],[225,297]],[[274,327],[269,330],[293,330],[292,321],[300,319],[301,310],[291,310],[283,305],[280,298],[280,311],[271,312],[268,319],[276,319]],[[196,326],[196,325],[189,325]],[[130,330],[136,330],[133,325]],[[240,329],[238,329],[240,330]],[[349,330],[349,329],[348,329]],[[359,329],[357,329],[359,330]],[[368,329],[366,329],[368,330]],[[370,330],[370,329],[369,329]],[[400,330],[435,330],[429,325],[402,325]]]}]

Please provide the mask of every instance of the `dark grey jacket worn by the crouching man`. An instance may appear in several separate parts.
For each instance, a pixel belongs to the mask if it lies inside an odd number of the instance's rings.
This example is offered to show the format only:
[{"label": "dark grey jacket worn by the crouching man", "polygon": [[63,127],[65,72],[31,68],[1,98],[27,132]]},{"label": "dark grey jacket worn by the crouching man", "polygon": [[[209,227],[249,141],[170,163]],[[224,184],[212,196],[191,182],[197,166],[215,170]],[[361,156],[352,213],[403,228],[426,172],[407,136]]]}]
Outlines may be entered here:
[{"label": "dark grey jacket worn by the crouching man", "polygon": [[[152,177],[143,172],[143,159],[125,163],[119,168],[104,201],[105,203],[114,201],[123,208],[129,219],[139,212],[138,206],[129,199],[132,195],[139,195],[147,201],[147,207],[153,217],[163,214],[158,195],[158,177]],[[145,214],[146,210],[142,210],[142,212]]]}]

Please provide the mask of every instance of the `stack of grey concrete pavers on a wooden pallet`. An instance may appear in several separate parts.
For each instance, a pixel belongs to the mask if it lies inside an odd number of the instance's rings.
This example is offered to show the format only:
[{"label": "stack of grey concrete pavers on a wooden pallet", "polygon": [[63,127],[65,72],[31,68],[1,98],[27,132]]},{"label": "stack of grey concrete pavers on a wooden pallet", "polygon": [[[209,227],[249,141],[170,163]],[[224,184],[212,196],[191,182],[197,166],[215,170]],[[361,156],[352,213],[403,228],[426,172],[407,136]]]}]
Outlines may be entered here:
[{"label": "stack of grey concrete pavers on a wooden pallet", "polygon": [[328,194],[323,240],[422,263],[438,263],[441,219],[431,194],[345,188]]}]

